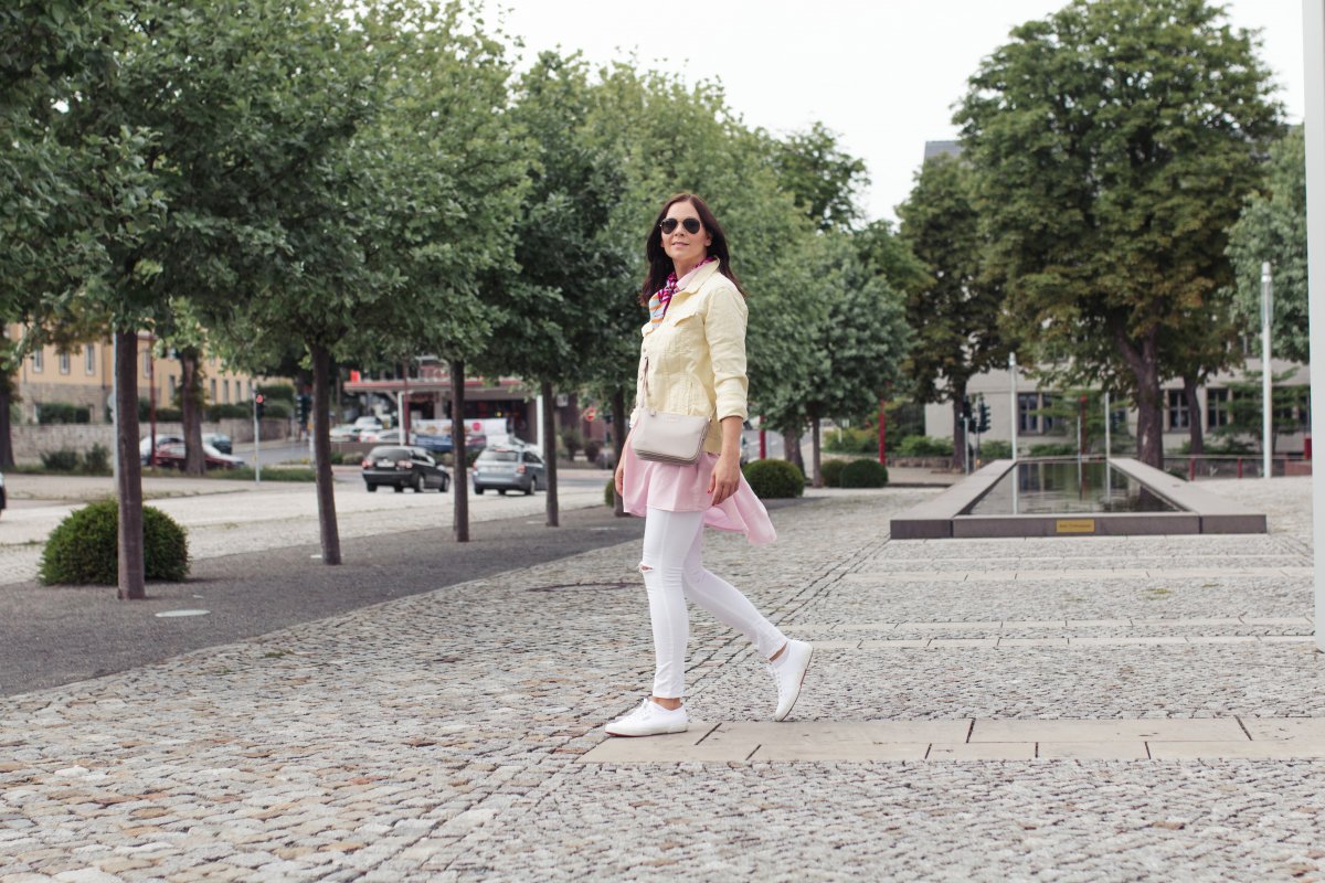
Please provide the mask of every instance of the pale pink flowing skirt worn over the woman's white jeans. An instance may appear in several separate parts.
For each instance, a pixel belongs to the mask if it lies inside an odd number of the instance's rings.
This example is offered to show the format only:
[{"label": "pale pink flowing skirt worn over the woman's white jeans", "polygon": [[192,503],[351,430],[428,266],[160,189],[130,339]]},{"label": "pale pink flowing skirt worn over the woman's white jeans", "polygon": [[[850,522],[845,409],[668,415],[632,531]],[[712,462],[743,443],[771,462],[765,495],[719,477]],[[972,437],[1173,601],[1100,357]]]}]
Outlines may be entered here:
[{"label": "pale pink flowing skirt worn over the woman's white jeans", "polygon": [[768,520],[768,510],[763,507],[763,502],[755,495],[745,475],[741,477],[735,494],[718,506],[712,503],[713,496],[708,488],[713,467],[718,462],[717,454],[705,451],[693,466],[677,466],[640,459],[627,445],[623,462],[625,483],[621,496],[625,500],[625,511],[631,515],[643,518],[651,506],[669,512],[704,512],[705,524],[719,531],[745,534],[753,545],[763,545],[778,539],[778,532]]}]

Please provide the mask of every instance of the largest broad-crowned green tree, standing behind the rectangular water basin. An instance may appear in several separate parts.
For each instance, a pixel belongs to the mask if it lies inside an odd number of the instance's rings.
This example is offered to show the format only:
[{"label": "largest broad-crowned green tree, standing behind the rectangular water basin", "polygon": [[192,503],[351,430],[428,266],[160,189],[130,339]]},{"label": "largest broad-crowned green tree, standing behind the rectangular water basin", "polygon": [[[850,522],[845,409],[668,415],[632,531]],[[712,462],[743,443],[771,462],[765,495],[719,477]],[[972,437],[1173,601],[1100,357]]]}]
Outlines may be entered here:
[{"label": "largest broad-crowned green tree, standing behind the rectangular water basin", "polygon": [[1165,330],[1228,283],[1224,230],[1279,130],[1253,34],[1204,0],[1076,0],[1012,30],[955,120],[1007,326],[1061,383],[1136,401],[1162,458]]}]

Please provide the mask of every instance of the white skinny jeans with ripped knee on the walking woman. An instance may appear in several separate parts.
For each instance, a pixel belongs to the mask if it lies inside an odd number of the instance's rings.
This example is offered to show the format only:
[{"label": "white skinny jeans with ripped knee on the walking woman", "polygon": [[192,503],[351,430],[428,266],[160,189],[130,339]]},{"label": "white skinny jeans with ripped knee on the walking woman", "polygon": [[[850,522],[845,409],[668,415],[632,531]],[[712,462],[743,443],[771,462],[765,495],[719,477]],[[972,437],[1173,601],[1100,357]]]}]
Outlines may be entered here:
[{"label": "white skinny jeans with ripped knee on the walking woman", "polygon": [[640,573],[644,575],[649,617],[653,620],[657,662],[653,695],[661,699],[680,699],[685,692],[685,645],[690,638],[686,598],[745,634],[766,659],[787,643],[778,626],[755,610],[746,596],[704,569],[702,555],[704,512],[669,512],[649,507],[644,519]]}]

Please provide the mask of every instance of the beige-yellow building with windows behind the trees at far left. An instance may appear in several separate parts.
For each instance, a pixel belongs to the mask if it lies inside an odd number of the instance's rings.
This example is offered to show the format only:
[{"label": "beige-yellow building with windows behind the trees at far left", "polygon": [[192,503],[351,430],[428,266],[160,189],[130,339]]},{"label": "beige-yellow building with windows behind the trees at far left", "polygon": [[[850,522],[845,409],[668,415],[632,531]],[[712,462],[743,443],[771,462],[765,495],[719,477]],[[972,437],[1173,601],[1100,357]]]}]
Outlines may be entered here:
[{"label": "beige-yellow building with windows behind the trees at far left", "polygon": [[[23,334],[19,326],[8,328],[9,336]],[[138,396],[155,401],[159,408],[175,406],[183,371],[179,360],[152,355],[156,340],[147,332],[138,335]],[[61,352],[42,347],[19,368],[16,381],[21,397],[23,422],[37,422],[44,404],[69,404],[89,408],[93,422],[106,421],[114,380],[114,348],[110,340],[98,340]],[[215,356],[203,360],[203,392],[208,404],[240,404],[253,398],[258,381],[252,375],[225,368]]]}]

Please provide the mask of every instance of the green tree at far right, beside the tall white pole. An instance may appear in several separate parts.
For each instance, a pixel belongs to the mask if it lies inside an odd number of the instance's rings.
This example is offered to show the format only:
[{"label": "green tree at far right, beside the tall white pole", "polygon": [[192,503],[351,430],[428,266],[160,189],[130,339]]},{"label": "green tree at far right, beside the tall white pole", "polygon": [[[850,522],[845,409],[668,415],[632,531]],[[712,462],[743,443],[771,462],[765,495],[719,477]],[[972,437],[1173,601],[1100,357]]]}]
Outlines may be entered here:
[{"label": "green tree at far right, beside the tall white pole", "polygon": [[1275,285],[1271,339],[1280,359],[1310,359],[1306,322],[1306,139],[1295,126],[1269,148],[1265,189],[1252,193],[1228,232],[1243,327],[1260,330],[1260,270],[1269,261]]}]

